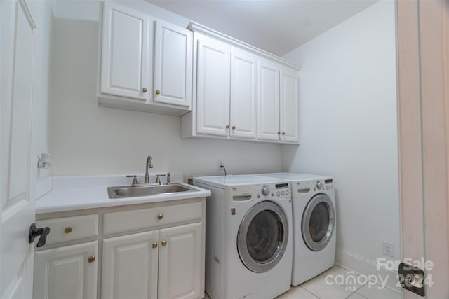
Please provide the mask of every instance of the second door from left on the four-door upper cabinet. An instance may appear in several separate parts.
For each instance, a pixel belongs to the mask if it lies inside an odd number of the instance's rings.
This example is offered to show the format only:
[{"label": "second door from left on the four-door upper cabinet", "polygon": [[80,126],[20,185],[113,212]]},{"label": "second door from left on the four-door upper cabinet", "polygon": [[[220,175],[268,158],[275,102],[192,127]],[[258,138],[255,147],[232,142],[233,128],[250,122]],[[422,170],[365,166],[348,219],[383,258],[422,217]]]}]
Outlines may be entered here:
[{"label": "second door from left on the four-door upper cabinet", "polygon": [[231,131],[232,137],[256,137],[256,80],[255,55],[232,50],[231,55]]}]

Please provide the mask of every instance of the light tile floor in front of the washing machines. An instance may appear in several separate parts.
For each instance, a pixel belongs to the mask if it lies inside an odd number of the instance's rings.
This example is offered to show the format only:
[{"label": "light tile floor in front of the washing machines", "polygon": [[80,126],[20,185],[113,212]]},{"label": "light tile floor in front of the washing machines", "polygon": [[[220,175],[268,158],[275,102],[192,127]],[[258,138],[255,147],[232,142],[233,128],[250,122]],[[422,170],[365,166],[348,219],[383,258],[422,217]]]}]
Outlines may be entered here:
[{"label": "light tile floor in front of the washing machines", "polygon": [[[366,279],[357,279],[358,276],[335,265],[300,286],[292,286],[290,291],[276,299],[401,299],[401,294],[380,285],[368,284]],[[205,295],[210,299],[208,294]]]}]

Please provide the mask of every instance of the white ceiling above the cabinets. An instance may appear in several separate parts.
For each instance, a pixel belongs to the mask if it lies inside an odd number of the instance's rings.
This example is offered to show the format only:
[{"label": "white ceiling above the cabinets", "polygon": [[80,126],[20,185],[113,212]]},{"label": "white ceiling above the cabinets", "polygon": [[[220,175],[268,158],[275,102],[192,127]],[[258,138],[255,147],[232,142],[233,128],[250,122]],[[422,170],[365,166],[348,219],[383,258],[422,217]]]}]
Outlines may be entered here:
[{"label": "white ceiling above the cabinets", "polygon": [[378,0],[147,0],[282,56]]}]

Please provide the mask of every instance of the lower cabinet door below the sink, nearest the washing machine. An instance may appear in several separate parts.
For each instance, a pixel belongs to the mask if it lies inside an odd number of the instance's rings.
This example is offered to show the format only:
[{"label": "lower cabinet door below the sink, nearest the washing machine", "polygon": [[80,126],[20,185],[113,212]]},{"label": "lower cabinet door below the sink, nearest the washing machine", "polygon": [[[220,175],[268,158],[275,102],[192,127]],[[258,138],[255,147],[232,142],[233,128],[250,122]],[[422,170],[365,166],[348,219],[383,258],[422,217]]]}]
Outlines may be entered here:
[{"label": "lower cabinet door below the sink, nearest the washing machine", "polygon": [[159,298],[201,298],[202,225],[200,222],[159,230]]}]

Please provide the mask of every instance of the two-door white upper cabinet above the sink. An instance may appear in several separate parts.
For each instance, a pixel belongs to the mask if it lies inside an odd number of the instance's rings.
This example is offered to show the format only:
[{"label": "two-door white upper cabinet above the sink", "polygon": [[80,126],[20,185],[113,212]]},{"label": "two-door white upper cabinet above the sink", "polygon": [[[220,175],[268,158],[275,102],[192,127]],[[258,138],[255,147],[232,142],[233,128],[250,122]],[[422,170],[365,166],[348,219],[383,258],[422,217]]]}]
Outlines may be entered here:
[{"label": "two-door white upper cabinet above the sink", "polygon": [[186,113],[192,105],[192,48],[189,30],[105,1],[98,104]]}]

